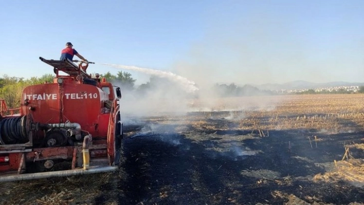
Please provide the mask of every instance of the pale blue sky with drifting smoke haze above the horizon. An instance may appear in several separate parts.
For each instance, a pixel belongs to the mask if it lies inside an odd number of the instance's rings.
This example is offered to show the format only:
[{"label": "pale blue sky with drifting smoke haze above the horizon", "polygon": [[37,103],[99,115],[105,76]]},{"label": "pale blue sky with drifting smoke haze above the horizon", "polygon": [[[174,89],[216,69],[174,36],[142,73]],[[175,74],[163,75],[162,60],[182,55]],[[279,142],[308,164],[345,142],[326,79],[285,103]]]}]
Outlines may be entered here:
[{"label": "pale blue sky with drifting smoke haze above the horizon", "polygon": [[364,1],[6,1],[0,20],[0,77],[52,73],[39,57],[69,41],[89,61],[197,84],[364,82]]}]

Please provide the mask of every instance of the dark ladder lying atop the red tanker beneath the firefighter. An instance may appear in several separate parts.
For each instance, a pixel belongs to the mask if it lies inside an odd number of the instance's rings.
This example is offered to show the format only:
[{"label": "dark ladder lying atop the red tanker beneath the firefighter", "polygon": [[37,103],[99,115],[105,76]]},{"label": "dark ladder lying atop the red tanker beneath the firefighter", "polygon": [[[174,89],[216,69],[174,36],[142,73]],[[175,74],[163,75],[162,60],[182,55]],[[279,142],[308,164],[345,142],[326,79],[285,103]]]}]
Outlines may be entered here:
[{"label": "dark ladder lying atop the red tanker beneath the firefighter", "polygon": [[83,78],[91,78],[89,74],[87,74],[83,69],[79,68],[77,65],[75,65],[72,61],[69,59],[65,59],[63,61],[56,61],[56,60],[46,60],[42,57],[39,57],[41,61],[44,63],[52,66],[54,68],[54,73],[57,74],[58,72],[62,71],[67,73],[69,76],[77,77],[81,75]]}]

